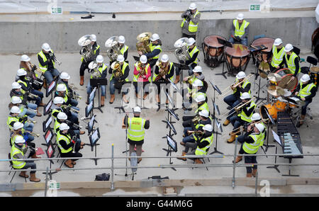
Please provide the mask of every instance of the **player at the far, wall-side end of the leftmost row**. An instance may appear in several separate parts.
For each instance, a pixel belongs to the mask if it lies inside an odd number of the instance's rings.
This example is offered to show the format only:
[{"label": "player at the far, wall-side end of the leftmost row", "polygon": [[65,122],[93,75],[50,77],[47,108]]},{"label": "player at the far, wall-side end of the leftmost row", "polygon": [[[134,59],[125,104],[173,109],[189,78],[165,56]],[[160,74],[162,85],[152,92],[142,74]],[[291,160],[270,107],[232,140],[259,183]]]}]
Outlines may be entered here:
[{"label": "player at the far, wall-side end of the leftmost row", "polygon": [[[30,57],[28,57],[28,55],[21,56],[19,68],[26,70],[28,79],[30,79],[33,89],[40,91],[43,86],[43,80],[38,78],[38,74],[35,73],[35,70],[38,70],[38,68],[31,64]],[[38,70],[38,72],[40,72],[40,70]],[[18,80],[18,76],[16,76],[16,80]]]}]

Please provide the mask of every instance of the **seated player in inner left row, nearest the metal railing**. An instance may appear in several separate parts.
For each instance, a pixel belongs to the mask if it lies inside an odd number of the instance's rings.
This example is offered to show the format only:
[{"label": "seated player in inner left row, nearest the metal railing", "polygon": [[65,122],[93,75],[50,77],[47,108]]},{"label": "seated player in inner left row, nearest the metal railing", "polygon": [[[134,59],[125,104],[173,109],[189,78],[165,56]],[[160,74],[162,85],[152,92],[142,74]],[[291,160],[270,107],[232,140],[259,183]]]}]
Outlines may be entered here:
[{"label": "seated player in inner left row, nearest the metal railing", "polygon": [[[82,149],[83,146],[77,144],[77,137],[74,135],[71,137],[69,133],[69,126],[65,123],[60,125],[60,130],[57,132],[57,147],[60,151],[61,157],[82,157],[82,154],[79,153],[79,149]],[[67,159],[65,161],[65,166],[73,168],[76,164],[77,159]]]}]

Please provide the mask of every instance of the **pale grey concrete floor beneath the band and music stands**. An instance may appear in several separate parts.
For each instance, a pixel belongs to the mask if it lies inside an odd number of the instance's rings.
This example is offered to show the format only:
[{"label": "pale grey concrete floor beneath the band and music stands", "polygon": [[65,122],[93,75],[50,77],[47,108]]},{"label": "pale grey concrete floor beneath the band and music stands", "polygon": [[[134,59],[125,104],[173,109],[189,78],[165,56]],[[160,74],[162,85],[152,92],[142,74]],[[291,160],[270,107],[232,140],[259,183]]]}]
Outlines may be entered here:
[{"label": "pale grey concrete floor beneath the band and music stands", "polygon": [[[167,53],[169,55],[170,61],[176,62],[177,59],[174,56],[173,52],[163,52]],[[102,52],[102,55],[104,57],[105,63],[108,64],[108,57],[106,57],[105,52]],[[133,55],[137,55],[135,52],[129,52],[129,62],[130,62],[130,76],[129,78],[132,79],[133,77]],[[306,59],[308,55],[312,55],[310,50],[302,50],[301,51],[301,58]],[[38,61],[36,59],[36,55],[29,55],[31,58],[31,62],[38,65]],[[60,71],[68,72],[71,76],[71,79],[69,80],[69,84],[74,85],[79,92],[81,96],[84,98],[86,97],[86,87],[85,86],[79,86],[79,66],[80,66],[80,55],[79,54],[60,54],[57,53],[57,58],[62,61],[61,66],[57,66],[57,69]],[[313,56],[313,55],[312,55]],[[21,55],[1,55],[0,57],[0,70],[1,73],[4,76],[4,79],[1,80],[0,88],[1,93],[0,97],[3,99],[0,102],[0,109],[3,110],[3,112],[0,113],[0,118],[3,120],[0,122],[0,134],[1,134],[1,147],[0,149],[0,159],[6,159],[7,154],[10,152],[10,146],[8,144],[9,139],[9,132],[6,125],[6,118],[9,114],[8,112],[8,104],[10,101],[9,98],[9,91],[11,89],[11,83],[13,82],[14,76],[16,75],[16,70],[18,69],[19,59]],[[217,73],[222,72],[223,65],[220,65],[220,67],[217,67],[215,69],[211,69],[203,62],[203,52],[200,52],[199,58],[201,62],[199,62],[199,65],[203,67],[203,74],[206,76],[206,81],[212,81],[213,84],[216,84],[220,90],[226,89],[230,84],[233,84],[233,81],[235,78],[233,76],[227,76],[227,79],[225,79],[223,76],[216,76]],[[301,63],[301,67],[308,66],[305,62]],[[226,71],[225,67],[225,71]],[[247,69],[246,74],[249,74],[250,72],[254,72],[254,64],[252,64],[252,59],[250,60]],[[186,73],[186,72],[185,72]],[[109,75],[107,76],[110,77]],[[87,84],[89,80],[89,74],[86,72],[85,74],[85,85]],[[254,79],[250,79],[250,82],[252,83],[252,94],[256,95],[258,86],[257,84],[254,84]],[[258,81],[256,81],[258,82]],[[266,79],[262,79],[262,86],[267,83]],[[261,97],[267,96],[267,88],[264,86],[264,89],[260,92]],[[111,146],[114,144],[114,156],[125,156],[123,154],[123,151],[125,151],[127,145],[125,142],[125,130],[121,128],[122,119],[124,117],[124,114],[118,114],[118,109],[115,109],[116,106],[121,106],[121,98],[119,97],[118,93],[116,92],[116,101],[110,105],[108,104],[109,100],[109,89],[107,87],[107,94],[106,94],[106,106],[103,107],[103,113],[101,113],[99,110],[94,110],[94,114],[96,115],[96,120],[98,123],[96,124],[96,127],[99,127],[99,130],[101,132],[101,139],[99,140],[99,146],[97,147],[97,156],[103,156],[103,157],[109,157],[111,156]],[[133,101],[133,98],[135,98],[135,94],[133,91],[130,91],[130,93],[133,94],[133,96],[130,96],[130,104],[128,104],[128,108],[126,108],[126,111],[130,111],[130,108],[133,108],[135,103]],[[211,98],[213,98],[213,89],[211,84],[208,82],[208,105],[213,110],[213,105],[211,102]],[[216,93],[216,97],[218,96],[218,93]],[[150,94],[150,98],[152,98],[152,94]],[[47,103],[47,99],[44,100],[45,103]],[[303,145],[303,153],[304,154],[319,154],[319,142],[317,137],[319,136],[318,131],[318,115],[319,115],[319,104],[318,104],[318,96],[315,96],[313,99],[313,103],[309,105],[311,108],[311,115],[313,116],[313,120],[310,120],[310,118],[306,118],[306,122],[308,123],[308,127],[306,125],[303,125],[298,129],[300,135],[301,135],[301,142]],[[96,97],[97,102],[97,97]],[[164,101],[162,101],[164,102]],[[227,105],[223,102],[223,98],[216,98],[216,103],[220,109],[220,113],[223,114],[227,112],[226,109]],[[259,101],[260,103],[260,101]],[[259,105],[265,104],[266,101],[262,102]],[[82,99],[82,101],[79,101],[79,118],[84,116],[84,108],[85,108],[85,100]],[[142,156],[166,156],[166,152],[164,152],[163,149],[167,149],[167,142],[166,139],[162,139],[165,135],[167,135],[168,129],[165,127],[164,120],[167,117],[167,112],[164,110],[164,108],[160,109],[158,112],[156,112],[157,106],[155,105],[154,101],[151,102],[145,102],[145,107],[149,109],[142,110],[142,118],[150,118],[150,130],[146,131],[145,135],[145,144],[143,145],[143,150],[145,152],[142,153]],[[259,112],[259,107],[256,109],[257,112]],[[40,108],[40,112],[43,113],[43,108]],[[182,117],[184,111],[179,109],[176,111],[176,113],[179,115],[179,118]],[[130,114],[130,116],[132,116]],[[40,133],[40,137],[35,138],[35,144],[37,147],[42,147],[43,150],[45,150],[45,146],[42,146],[40,144],[45,143],[45,140],[42,137],[42,122],[45,120],[47,116],[43,116],[40,118],[35,118],[37,120],[37,124],[34,127],[35,133]],[[225,120],[225,119],[223,119]],[[178,143],[178,152],[172,153],[172,156],[179,156],[181,154],[181,151],[184,147],[182,147],[179,142],[181,142],[181,136],[183,127],[181,126],[181,120],[179,122],[174,124],[174,127],[177,130],[177,135],[174,136],[174,139]],[[52,124],[53,125],[53,124]],[[85,125],[83,121],[80,121],[80,125]],[[232,126],[223,127],[223,134],[218,135],[218,151],[223,152],[223,154],[233,154],[235,149],[235,144],[228,144],[226,143],[226,139],[228,139],[228,132],[232,130]],[[274,127],[273,130],[276,132],[276,128]],[[271,130],[269,130],[271,131]],[[86,132],[87,133],[87,132]],[[83,142],[89,143],[89,137],[86,135],[82,135],[81,139]],[[210,152],[213,152],[213,147],[215,147],[216,144],[216,136],[213,140],[213,146],[210,149]],[[269,144],[274,144],[273,137],[269,137]],[[239,146],[237,146],[237,149],[239,149]],[[275,154],[276,147],[269,147],[267,154]],[[84,149],[82,149],[81,153],[84,157],[94,157],[94,152],[91,151],[91,147],[86,146]],[[281,147],[278,148],[277,153],[281,154],[282,150]],[[261,149],[259,149],[258,154],[264,154]],[[43,155],[43,158],[46,158],[46,155]],[[274,163],[274,156],[262,156],[258,159],[259,164],[273,164]],[[209,164],[232,164],[233,158],[232,157],[225,157],[225,158],[211,158]],[[277,157],[277,163],[279,164],[288,164],[288,160],[284,158]],[[293,159],[293,164],[318,164],[319,157],[318,156],[304,156],[303,159]],[[61,161],[60,161],[61,162]],[[57,168],[60,166],[60,162],[58,164],[53,164],[53,168]],[[181,161],[178,159],[172,159],[172,162],[177,165],[184,165],[184,164],[192,164],[191,161]],[[206,164],[208,162],[206,161]],[[139,166],[157,166],[158,165],[168,165],[169,159],[161,158],[161,159],[143,159]],[[49,165],[48,161],[37,161],[37,168],[38,169],[45,169]],[[108,169],[99,169],[99,168],[105,168],[110,167],[111,161],[108,159],[101,159],[97,162],[97,165],[94,164],[93,160],[87,159],[87,160],[79,160],[77,161],[77,165],[75,166],[76,169],[85,169],[85,168],[96,168],[97,170],[81,170],[81,171],[60,171],[59,173],[53,174],[53,179],[57,182],[62,181],[94,181],[94,178],[96,174],[99,173],[111,173]],[[125,166],[125,159],[116,159],[114,161],[114,166]],[[268,165],[270,166],[270,165]],[[65,169],[65,166],[62,166],[62,169]],[[7,161],[0,162],[0,169],[7,170],[9,169],[9,163]],[[281,174],[288,173],[289,169],[288,166],[279,166],[279,170],[281,173],[278,173],[274,169],[267,169],[267,165],[260,165],[259,166],[259,176],[262,176],[264,178],[281,178]],[[291,167],[291,174],[298,174],[301,177],[305,178],[318,178],[318,166],[292,166]],[[123,176],[125,174],[125,169],[116,169],[115,171],[116,175],[114,177],[114,181],[130,181],[131,176]],[[130,173],[130,169],[128,169],[128,173]],[[236,170],[236,177],[245,177],[245,168],[237,168]],[[44,181],[45,176],[38,172],[37,176]],[[162,168],[156,168],[156,169],[138,169],[137,174],[134,176],[134,180],[142,180],[145,178],[148,178],[150,176],[169,176],[169,178],[172,179],[186,179],[186,178],[198,178],[198,179],[204,179],[204,178],[230,178],[233,176],[233,168],[230,167],[213,167],[210,168],[209,171],[206,170],[206,168],[180,168],[177,169],[177,171],[174,171],[173,169],[162,169]],[[1,183],[9,183],[11,179],[11,176],[8,176],[8,173],[1,172],[0,173],[0,181]],[[13,183],[23,183],[24,179],[16,176],[13,178]],[[199,189],[198,189],[199,190]],[[240,189],[237,189],[237,193],[240,193]],[[188,193],[194,193],[192,191],[189,191]],[[196,192],[201,193],[201,191]],[[211,193],[211,192],[209,192]],[[252,192],[254,193],[254,188],[252,188]]]}]

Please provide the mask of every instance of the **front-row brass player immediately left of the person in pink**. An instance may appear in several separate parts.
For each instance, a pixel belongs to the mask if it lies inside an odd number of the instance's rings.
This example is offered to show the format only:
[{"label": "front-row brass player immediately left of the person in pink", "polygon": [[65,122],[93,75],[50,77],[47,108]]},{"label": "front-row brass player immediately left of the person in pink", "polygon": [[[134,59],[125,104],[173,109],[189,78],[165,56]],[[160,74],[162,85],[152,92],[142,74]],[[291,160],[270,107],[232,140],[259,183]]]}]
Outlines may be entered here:
[{"label": "front-row brass player immediately left of the person in pink", "polygon": [[[115,99],[115,89],[118,89],[119,91],[122,89],[123,82],[128,81],[128,74],[130,73],[130,67],[128,67],[128,63],[124,61],[123,55],[118,55],[116,62],[118,62],[119,67],[117,69],[112,69],[109,70],[109,74],[111,75],[110,78],[110,93],[111,93],[111,98],[110,98],[110,104],[114,102]],[[119,76],[116,76],[116,74]],[[122,100],[124,103],[129,103],[128,100],[126,99],[125,95],[128,93],[128,90],[122,91]]]}]

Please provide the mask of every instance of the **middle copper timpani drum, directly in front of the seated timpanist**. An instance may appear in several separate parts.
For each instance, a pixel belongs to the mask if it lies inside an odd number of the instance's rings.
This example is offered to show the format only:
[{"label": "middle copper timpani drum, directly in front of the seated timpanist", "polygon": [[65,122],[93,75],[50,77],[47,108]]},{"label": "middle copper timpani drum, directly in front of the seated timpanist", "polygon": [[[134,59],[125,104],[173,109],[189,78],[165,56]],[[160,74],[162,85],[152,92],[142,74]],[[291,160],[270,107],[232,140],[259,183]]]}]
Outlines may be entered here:
[{"label": "middle copper timpani drum, directly in front of the seated timpanist", "polygon": [[230,74],[244,71],[250,61],[250,50],[246,45],[233,44],[233,47],[225,48],[225,60]]}]

